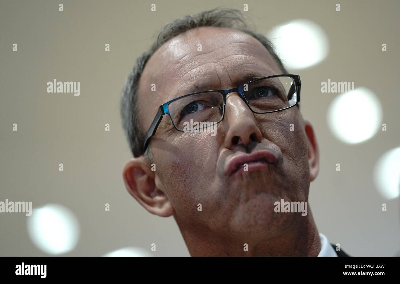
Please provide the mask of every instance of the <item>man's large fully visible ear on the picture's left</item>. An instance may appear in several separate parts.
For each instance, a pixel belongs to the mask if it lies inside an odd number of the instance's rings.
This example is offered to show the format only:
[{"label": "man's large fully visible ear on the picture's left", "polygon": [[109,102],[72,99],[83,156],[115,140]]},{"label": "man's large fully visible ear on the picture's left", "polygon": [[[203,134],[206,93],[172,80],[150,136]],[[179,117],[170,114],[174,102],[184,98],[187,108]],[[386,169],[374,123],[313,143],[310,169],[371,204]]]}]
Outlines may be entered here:
[{"label": "man's large fully visible ear on the picture's left", "polygon": [[[163,189],[156,186],[156,172],[144,156],[129,160],[122,170],[125,187],[128,192],[150,213],[161,217],[174,214],[167,195]],[[162,184],[157,183],[160,187]]]}]

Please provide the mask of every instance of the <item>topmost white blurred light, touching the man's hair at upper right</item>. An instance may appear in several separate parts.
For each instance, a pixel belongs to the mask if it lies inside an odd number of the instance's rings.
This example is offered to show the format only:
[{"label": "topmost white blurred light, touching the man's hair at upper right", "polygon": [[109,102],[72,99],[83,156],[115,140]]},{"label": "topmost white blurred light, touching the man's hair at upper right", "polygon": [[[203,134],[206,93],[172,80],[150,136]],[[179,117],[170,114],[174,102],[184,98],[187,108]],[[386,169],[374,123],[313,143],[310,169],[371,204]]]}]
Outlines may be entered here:
[{"label": "topmost white blurred light, touching the man's hair at upper right", "polygon": [[308,68],[324,60],[329,53],[329,40],[324,30],[306,19],[275,26],[267,38],[288,69]]}]

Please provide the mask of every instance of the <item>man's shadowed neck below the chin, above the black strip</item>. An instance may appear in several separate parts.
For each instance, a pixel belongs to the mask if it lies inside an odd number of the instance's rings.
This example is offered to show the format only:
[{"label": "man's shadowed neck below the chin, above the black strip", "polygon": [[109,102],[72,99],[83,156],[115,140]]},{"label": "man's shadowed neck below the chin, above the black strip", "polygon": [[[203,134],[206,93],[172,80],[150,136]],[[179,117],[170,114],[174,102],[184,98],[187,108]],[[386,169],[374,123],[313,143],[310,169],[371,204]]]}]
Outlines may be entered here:
[{"label": "man's shadowed neck below the chin, above the black strip", "polygon": [[[221,234],[206,227],[181,226],[176,219],[191,256],[317,256],[320,236],[310,208],[300,222],[279,236],[240,236]],[[247,250],[246,246],[247,244]]]}]

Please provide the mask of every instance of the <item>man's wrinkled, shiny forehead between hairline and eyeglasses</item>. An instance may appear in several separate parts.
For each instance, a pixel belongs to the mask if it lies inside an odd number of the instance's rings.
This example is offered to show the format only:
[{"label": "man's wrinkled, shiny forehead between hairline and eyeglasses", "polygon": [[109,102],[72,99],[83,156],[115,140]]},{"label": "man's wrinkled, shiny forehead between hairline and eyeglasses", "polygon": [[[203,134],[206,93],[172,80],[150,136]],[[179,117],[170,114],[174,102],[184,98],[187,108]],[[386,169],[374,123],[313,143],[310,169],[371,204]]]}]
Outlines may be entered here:
[{"label": "man's wrinkled, shiny forehead between hairline and eyeglasses", "polygon": [[[193,84],[228,89],[247,73],[262,77],[282,71],[262,43],[244,32],[201,27],[179,34],[153,54],[140,78],[138,104],[144,128],[158,106],[190,93]],[[156,91],[151,91],[152,84]]]}]

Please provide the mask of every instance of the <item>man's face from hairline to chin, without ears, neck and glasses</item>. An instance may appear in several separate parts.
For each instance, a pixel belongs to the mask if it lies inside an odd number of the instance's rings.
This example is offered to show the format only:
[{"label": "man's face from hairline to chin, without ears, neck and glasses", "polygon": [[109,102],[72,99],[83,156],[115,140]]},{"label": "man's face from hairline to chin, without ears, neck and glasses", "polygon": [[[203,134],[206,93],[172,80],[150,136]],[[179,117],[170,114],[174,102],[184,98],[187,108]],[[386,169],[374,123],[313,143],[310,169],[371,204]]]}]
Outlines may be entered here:
[{"label": "man's face from hairline to chin, without ears, neck and glasses", "polygon": [[[180,34],[144,69],[138,92],[141,126],[147,131],[158,106],[192,93],[194,85],[207,85],[204,91],[230,89],[251,81],[249,73],[282,74],[252,36],[213,27]],[[181,230],[275,237],[301,218],[274,212],[281,199],[308,199],[308,142],[297,107],[255,114],[238,93],[229,93],[215,136],[177,131],[164,115],[150,143],[156,187],[168,197]]]}]

